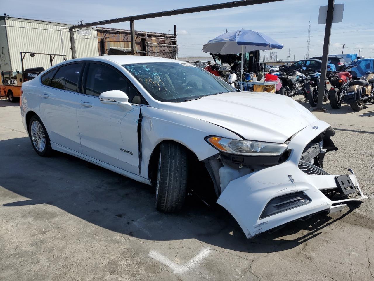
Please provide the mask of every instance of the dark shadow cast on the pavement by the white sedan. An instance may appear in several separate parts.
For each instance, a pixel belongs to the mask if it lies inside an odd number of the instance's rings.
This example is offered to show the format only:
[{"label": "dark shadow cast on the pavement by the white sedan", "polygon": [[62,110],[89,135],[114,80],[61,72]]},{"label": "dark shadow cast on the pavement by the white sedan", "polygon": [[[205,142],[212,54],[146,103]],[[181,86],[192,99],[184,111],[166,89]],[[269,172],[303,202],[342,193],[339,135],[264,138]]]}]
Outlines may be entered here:
[{"label": "dark shadow cast on the pavement by the white sedan", "polygon": [[[0,185],[28,198],[10,199],[1,206],[3,212],[17,212],[22,206],[49,204],[102,227],[103,235],[107,229],[152,241],[194,238],[228,250],[270,253],[297,247],[318,236],[324,227],[358,206],[351,204],[349,211],[335,219],[316,215],[273,233],[247,239],[234,218],[217,204],[209,208],[196,197],[189,196],[183,211],[175,214],[157,212],[151,186],[64,153],[55,152],[52,157],[42,158],[34,152],[27,137],[0,141],[0,158],[7,163],[2,168]],[[19,214],[29,212],[33,209]],[[55,212],[63,215],[58,209]],[[45,223],[48,216],[50,211],[43,218],[38,215],[36,220],[39,218]]]}]

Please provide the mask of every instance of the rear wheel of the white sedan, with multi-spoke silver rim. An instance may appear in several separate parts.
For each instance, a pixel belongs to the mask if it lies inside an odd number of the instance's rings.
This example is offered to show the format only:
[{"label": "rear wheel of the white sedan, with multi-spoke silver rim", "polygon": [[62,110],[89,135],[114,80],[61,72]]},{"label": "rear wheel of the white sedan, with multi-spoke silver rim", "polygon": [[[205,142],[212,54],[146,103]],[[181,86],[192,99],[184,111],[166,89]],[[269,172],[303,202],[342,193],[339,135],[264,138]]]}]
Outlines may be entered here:
[{"label": "rear wheel of the white sedan, with multi-spoke silver rim", "polygon": [[48,157],[52,154],[49,136],[42,120],[34,115],[28,123],[28,135],[37,154]]}]

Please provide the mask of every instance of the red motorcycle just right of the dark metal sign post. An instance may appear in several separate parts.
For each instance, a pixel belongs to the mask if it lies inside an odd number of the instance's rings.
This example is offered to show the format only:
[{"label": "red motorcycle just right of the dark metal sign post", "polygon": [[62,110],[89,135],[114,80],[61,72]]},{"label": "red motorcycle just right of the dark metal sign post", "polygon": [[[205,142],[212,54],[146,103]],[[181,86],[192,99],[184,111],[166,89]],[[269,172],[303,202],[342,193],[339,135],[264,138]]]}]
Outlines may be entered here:
[{"label": "red motorcycle just right of the dark metal sign post", "polygon": [[331,84],[328,99],[332,109],[339,109],[343,97],[347,93],[348,84],[352,80],[349,72],[332,72],[327,76],[327,84]]}]

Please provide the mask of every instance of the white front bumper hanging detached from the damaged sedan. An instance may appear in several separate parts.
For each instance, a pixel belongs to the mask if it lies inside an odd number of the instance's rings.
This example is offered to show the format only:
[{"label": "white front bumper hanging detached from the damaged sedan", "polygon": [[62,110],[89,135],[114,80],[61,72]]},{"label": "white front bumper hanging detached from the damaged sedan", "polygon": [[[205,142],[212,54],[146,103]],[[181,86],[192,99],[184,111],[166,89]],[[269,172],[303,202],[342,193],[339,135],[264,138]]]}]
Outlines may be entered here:
[{"label": "white front bumper hanging detached from the damaged sedan", "polygon": [[[318,212],[341,211],[345,202],[367,198],[352,170],[349,179],[360,197],[330,200],[321,190],[338,188],[337,175],[309,175],[298,167],[306,145],[329,127],[324,121],[316,121],[301,130],[288,144],[291,149],[288,160],[240,176],[230,181],[220,194],[217,203],[233,215],[247,238]],[[286,210],[269,211],[266,208],[269,204],[283,204]]]}]

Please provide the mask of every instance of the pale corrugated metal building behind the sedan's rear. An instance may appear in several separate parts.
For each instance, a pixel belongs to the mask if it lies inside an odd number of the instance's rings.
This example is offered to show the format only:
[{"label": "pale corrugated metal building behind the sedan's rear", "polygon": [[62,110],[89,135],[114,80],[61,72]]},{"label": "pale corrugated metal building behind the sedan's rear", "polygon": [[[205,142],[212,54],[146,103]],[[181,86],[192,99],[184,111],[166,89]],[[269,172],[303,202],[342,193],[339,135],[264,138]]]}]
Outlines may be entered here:
[{"label": "pale corrugated metal building behind the sedan's rear", "polygon": [[[66,55],[71,59],[70,37],[68,28],[71,25],[34,19],[0,16],[0,70],[22,70],[20,52],[39,52]],[[77,57],[94,57],[99,55],[97,33],[95,28],[83,28],[74,32]],[[62,61],[55,57],[53,65]],[[24,66],[50,67],[49,56],[26,55]]]}]

